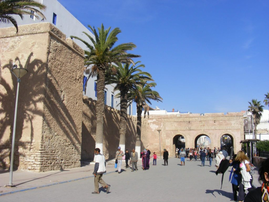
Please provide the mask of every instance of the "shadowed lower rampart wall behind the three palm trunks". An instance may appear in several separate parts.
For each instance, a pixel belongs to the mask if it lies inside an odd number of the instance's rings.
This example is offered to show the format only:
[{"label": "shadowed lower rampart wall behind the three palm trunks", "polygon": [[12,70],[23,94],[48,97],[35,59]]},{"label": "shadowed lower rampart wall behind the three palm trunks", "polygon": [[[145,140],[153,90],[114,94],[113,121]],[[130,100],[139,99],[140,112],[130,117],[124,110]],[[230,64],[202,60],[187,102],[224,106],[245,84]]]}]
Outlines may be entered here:
[{"label": "shadowed lower rampart wall behind the three palm trunks", "polygon": [[[96,100],[84,96],[83,103],[81,160],[91,161],[95,148]],[[119,110],[105,106],[103,153],[106,159],[115,158],[119,146],[119,120]],[[135,148],[136,121],[136,117],[128,115],[125,139],[128,150]]]}]

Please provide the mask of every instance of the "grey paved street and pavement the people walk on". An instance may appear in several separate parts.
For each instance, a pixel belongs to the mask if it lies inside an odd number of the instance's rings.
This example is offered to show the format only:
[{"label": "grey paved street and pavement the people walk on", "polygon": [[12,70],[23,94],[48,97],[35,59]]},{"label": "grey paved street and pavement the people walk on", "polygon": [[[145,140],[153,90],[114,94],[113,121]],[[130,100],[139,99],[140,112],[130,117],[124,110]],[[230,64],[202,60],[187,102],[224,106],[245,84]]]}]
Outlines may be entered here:
[{"label": "grey paved street and pavement the people walk on", "polygon": [[[113,161],[108,163],[108,173],[103,176],[105,182],[111,185],[110,193],[100,188],[100,194],[91,194],[94,191],[93,177],[91,176],[94,165],[86,165],[82,168],[65,171],[32,173],[14,172],[13,182],[16,188],[1,188],[1,193],[16,191],[30,187],[38,187],[62,181],[69,181],[85,177],[67,183],[55,184],[37,189],[16,192],[0,196],[0,201],[230,201],[232,198],[232,186],[228,182],[229,172],[224,175],[222,189],[221,175],[215,175],[216,168],[213,162],[209,167],[201,167],[200,161],[189,161],[180,166],[180,159],[170,157],[169,165],[164,166],[162,160],[157,161],[157,166],[150,166],[149,170],[131,172],[125,169],[121,174],[113,168]],[[152,164],[152,163],[151,163]],[[141,165],[141,163],[139,163]],[[0,185],[8,183],[8,173],[0,172]],[[3,181],[5,183],[3,183]],[[257,172],[254,175],[254,185],[257,183]]]}]

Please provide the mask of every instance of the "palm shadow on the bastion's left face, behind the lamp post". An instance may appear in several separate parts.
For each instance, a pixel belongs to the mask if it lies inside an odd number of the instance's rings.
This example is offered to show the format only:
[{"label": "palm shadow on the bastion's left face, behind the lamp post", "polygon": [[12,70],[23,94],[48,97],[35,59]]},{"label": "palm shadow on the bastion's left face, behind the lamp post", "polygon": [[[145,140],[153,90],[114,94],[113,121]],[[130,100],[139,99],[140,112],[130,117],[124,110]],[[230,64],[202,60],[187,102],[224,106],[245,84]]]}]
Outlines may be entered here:
[{"label": "palm shadow on the bastion's left face, behind the lamp post", "polygon": [[[33,52],[29,54],[26,63],[21,63],[17,57],[14,61],[20,68],[27,68],[29,71],[20,83],[18,109],[17,109],[17,122],[16,122],[16,136],[15,136],[15,148],[14,148],[14,170],[19,166],[19,157],[24,158],[24,154],[19,152],[19,147],[29,149],[29,151],[35,147],[33,144],[34,116],[42,116],[42,111],[38,109],[38,102],[41,102],[44,97],[44,85],[42,78],[45,77],[46,64],[41,60],[34,59],[30,62]],[[3,71],[11,69],[13,61],[10,60],[8,64],[3,65]],[[9,70],[8,70],[9,71]],[[10,72],[10,74],[12,74]],[[15,101],[17,91],[17,78],[14,75],[10,75],[12,84],[8,81],[8,78],[2,78],[0,86],[5,91],[0,92],[0,140],[6,130],[10,130],[9,140],[0,141],[0,168],[6,169],[7,165],[4,161],[5,158],[10,159],[12,133],[13,133],[13,121],[15,112]],[[23,129],[30,127],[29,134],[22,134]],[[9,129],[10,128],[10,129]],[[30,141],[21,141],[22,135],[24,135]]]}]

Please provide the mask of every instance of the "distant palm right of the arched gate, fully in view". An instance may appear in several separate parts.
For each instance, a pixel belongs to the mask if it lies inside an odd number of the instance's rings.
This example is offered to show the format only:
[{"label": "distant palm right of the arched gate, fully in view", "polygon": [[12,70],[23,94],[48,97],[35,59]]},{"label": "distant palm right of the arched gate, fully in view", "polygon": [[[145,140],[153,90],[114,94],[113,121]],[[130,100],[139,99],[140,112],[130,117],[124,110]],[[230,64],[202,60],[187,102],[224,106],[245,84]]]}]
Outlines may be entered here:
[{"label": "distant palm right of the arched gate, fully in view", "polygon": [[263,112],[263,105],[260,104],[261,101],[257,101],[257,99],[252,99],[252,102],[249,102],[249,109],[247,111],[252,113],[253,116],[253,124],[254,124],[254,138],[257,138],[257,125],[261,120],[261,112]]}]

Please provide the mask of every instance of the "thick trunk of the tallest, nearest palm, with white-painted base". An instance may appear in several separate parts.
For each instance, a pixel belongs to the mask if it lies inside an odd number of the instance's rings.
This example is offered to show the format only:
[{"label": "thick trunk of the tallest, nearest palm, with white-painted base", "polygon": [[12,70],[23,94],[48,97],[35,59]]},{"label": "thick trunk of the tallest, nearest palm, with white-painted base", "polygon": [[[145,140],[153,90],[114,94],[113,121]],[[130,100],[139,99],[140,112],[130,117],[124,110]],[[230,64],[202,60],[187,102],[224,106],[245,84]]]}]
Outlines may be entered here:
[{"label": "thick trunk of the tallest, nearest palm, with white-painted base", "polygon": [[104,113],[105,113],[104,90],[105,90],[105,71],[100,69],[97,75],[95,148],[99,148],[101,154],[103,154],[103,135],[104,135]]}]

